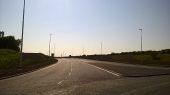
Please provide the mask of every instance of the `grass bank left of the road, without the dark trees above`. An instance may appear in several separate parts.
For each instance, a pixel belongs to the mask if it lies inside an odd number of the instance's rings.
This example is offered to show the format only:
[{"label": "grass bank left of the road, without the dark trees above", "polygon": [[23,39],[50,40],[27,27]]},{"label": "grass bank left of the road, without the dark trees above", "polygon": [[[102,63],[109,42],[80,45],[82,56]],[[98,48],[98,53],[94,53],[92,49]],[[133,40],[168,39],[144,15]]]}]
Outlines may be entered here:
[{"label": "grass bank left of the road, without the dark trees above", "polygon": [[57,62],[42,53],[23,53],[23,62],[20,54],[9,49],[0,49],[0,78],[33,71]]}]

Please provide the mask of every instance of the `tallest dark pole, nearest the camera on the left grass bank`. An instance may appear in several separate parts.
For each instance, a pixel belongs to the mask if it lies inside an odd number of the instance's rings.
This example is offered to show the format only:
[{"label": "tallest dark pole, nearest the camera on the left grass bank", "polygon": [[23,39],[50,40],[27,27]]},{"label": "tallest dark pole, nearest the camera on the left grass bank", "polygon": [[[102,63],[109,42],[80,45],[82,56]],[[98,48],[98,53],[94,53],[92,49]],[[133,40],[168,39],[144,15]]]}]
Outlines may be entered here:
[{"label": "tallest dark pole, nearest the camera on the left grass bank", "polygon": [[19,64],[19,66],[22,65],[22,57],[23,57],[22,51],[23,51],[24,19],[25,19],[25,0],[24,0],[24,5],[23,5],[22,35],[21,35],[21,51],[20,51],[20,64]]}]

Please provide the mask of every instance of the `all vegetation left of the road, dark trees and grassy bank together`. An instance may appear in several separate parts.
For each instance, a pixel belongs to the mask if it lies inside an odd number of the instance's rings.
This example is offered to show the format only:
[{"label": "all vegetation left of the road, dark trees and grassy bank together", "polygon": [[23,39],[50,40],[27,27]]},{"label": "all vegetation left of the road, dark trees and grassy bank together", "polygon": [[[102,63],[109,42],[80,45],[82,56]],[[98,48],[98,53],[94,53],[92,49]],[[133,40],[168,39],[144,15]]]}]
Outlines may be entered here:
[{"label": "all vegetation left of the road, dark trees and grassy bank together", "polygon": [[0,37],[0,79],[22,74],[57,62],[42,53],[22,53],[20,64],[20,40],[13,36]]}]

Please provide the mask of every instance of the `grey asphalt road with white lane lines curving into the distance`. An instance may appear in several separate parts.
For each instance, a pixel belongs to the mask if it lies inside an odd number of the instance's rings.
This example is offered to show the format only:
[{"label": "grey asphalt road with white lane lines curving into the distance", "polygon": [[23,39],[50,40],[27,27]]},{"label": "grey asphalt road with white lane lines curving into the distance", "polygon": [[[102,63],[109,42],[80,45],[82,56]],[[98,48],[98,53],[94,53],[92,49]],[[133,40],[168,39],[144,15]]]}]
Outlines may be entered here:
[{"label": "grey asphalt road with white lane lines curving into the distance", "polygon": [[169,73],[164,68],[59,59],[43,69],[0,80],[0,95],[169,95]]}]

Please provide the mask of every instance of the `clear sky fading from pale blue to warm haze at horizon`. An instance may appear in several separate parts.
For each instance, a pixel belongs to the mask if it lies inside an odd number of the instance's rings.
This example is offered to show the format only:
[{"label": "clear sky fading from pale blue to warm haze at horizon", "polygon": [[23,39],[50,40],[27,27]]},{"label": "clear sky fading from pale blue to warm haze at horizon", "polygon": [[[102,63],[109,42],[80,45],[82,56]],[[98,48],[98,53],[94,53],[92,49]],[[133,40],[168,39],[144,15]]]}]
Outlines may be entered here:
[{"label": "clear sky fading from pale blue to warm haze at horizon", "polygon": [[[24,0],[0,0],[0,30],[21,38]],[[56,56],[170,48],[170,0],[26,0],[23,52]],[[54,49],[55,48],[55,49]]]}]

